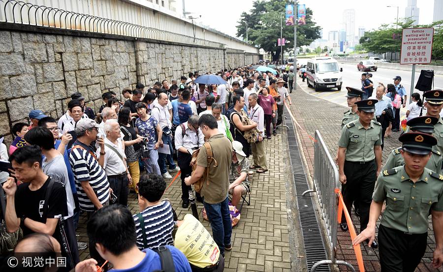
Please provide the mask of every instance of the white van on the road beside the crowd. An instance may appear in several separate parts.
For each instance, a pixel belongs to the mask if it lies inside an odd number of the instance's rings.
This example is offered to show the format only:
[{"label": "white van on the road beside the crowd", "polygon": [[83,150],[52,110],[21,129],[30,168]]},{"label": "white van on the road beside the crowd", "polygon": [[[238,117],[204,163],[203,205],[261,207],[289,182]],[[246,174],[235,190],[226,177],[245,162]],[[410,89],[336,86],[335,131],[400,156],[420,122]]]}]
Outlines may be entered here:
[{"label": "white van on the road beside the crowd", "polygon": [[342,72],[337,60],[330,57],[319,57],[308,60],[306,66],[306,79],[308,87],[320,89],[337,88],[342,90]]}]

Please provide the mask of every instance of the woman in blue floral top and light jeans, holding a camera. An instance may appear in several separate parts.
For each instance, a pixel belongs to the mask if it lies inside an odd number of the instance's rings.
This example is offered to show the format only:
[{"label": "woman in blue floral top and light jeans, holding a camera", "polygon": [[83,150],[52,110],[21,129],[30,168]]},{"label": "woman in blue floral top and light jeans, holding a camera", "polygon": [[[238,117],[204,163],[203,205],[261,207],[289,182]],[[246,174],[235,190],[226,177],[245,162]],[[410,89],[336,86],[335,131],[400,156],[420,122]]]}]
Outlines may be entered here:
[{"label": "woman in blue floral top and light jeans, holding a camera", "polygon": [[138,134],[143,137],[143,146],[141,147],[141,159],[148,173],[160,175],[160,167],[158,166],[158,148],[163,145],[161,135],[163,134],[158,121],[150,116],[148,108],[143,103],[135,105],[139,118],[135,121]]}]

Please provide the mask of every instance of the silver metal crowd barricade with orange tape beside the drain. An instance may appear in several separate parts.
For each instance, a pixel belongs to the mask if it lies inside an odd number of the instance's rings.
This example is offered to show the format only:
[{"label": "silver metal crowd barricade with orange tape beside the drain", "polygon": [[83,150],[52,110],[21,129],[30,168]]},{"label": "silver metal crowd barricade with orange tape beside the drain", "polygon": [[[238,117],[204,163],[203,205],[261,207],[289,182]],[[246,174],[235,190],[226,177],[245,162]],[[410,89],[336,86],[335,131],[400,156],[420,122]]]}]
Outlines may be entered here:
[{"label": "silver metal crowd barricade with orange tape beside the drain", "polygon": [[348,266],[351,271],[355,272],[355,269],[348,262],[336,260],[335,247],[337,243],[338,224],[338,194],[336,190],[340,190],[339,174],[337,166],[318,130],[316,130],[314,141],[314,186],[315,190],[308,190],[304,192],[303,195],[316,191],[320,201],[323,220],[326,225],[327,240],[332,252],[330,252],[331,260],[317,262],[312,267],[311,272],[314,272],[320,265],[345,265]]}]

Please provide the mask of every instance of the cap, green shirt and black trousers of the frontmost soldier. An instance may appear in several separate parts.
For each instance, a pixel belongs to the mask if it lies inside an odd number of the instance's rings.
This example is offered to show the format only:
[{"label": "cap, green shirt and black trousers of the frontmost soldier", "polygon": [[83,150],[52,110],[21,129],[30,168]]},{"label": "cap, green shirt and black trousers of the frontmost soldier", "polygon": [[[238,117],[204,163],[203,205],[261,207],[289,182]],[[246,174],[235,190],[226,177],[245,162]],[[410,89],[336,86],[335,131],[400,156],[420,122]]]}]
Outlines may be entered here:
[{"label": "cap, green shirt and black trousers of the frontmost soldier", "polygon": [[[422,132],[405,133],[399,140],[410,155],[429,154],[437,144]],[[424,168],[414,182],[407,165],[383,170],[373,200],[386,201],[378,235],[381,271],[413,272],[426,250],[428,216],[431,210],[443,212],[443,175]]]}]

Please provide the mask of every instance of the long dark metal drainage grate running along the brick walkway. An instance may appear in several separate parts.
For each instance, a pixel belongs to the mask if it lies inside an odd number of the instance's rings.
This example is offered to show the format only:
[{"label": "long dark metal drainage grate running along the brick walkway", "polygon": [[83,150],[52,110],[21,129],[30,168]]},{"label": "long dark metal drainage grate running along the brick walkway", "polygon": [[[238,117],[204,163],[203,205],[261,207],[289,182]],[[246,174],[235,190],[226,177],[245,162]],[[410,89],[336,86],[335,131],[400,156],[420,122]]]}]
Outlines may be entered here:
[{"label": "long dark metal drainage grate running along the brick walkway", "polygon": [[[286,113],[287,114],[287,113]],[[303,242],[306,252],[306,262],[308,271],[318,261],[327,260],[326,250],[323,244],[322,233],[318,226],[316,212],[312,203],[310,194],[301,196],[301,194],[309,190],[306,173],[303,168],[300,152],[298,150],[297,138],[294,133],[292,122],[287,121],[287,141],[289,145],[290,164],[292,166],[292,174],[294,177],[295,192],[297,195],[297,206],[300,214],[300,226],[303,233]],[[329,266],[319,266],[316,272],[330,272]]]}]

